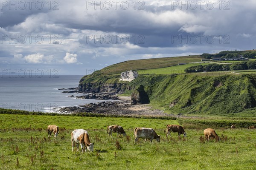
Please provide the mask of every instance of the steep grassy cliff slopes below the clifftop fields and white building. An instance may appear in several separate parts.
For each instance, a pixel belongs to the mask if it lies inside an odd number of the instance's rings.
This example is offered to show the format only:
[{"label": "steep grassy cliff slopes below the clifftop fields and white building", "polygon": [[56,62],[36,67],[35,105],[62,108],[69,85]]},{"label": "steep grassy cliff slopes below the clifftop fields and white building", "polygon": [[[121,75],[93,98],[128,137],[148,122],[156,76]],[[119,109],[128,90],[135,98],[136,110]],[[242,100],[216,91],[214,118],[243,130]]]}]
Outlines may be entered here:
[{"label": "steep grassy cliff slopes below the clifftop fields and white building", "polygon": [[151,74],[139,75],[131,82],[119,82],[119,76],[90,75],[80,82],[79,90],[122,93],[139,85],[144,86],[151,104],[172,113],[256,114],[256,75],[253,74]]}]

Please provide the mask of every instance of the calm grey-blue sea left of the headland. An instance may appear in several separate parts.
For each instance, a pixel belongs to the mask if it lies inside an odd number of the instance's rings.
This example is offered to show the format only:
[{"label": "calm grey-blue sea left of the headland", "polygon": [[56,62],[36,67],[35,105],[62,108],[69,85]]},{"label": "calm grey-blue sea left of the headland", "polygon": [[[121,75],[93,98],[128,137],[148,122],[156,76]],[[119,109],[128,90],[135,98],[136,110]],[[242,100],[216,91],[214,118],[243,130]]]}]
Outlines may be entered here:
[{"label": "calm grey-blue sea left of the headland", "polygon": [[58,77],[15,77],[0,75],[0,108],[26,111],[55,112],[55,107],[79,106],[86,103],[102,102],[96,99],[76,99],[61,93],[60,88],[75,88],[82,75],[58,75]]}]

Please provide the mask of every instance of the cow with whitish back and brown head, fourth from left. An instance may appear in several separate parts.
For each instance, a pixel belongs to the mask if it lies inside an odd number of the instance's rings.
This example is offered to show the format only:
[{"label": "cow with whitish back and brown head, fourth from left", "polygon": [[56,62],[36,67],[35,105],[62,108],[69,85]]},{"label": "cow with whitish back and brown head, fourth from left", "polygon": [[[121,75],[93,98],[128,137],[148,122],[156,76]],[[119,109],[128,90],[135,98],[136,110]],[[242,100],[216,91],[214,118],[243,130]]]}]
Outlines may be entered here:
[{"label": "cow with whitish back and brown head, fourth from left", "polygon": [[139,138],[150,139],[150,142],[152,143],[153,139],[156,139],[157,142],[160,142],[160,135],[157,135],[157,133],[154,131],[154,129],[151,128],[145,128],[145,127],[136,127],[134,129],[134,142],[136,143]]}]

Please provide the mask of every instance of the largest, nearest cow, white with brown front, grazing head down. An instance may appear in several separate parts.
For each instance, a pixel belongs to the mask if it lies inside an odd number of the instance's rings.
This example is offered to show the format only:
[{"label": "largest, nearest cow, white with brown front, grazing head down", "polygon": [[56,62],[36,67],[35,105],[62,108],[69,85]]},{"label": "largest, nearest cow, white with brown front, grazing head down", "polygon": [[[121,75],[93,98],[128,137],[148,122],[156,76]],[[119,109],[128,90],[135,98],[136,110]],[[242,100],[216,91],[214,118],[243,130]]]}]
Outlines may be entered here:
[{"label": "largest, nearest cow, white with brown front, grazing head down", "polygon": [[87,151],[87,149],[93,152],[94,142],[91,143],[89,139],[89,135],[86,130],[76,129],[71,133],[71,141],[72,141],[72,151],[74,150],[74,146],[76,144],[77,151],[79,151],[79,143],[81,145],[82,153]]}]

